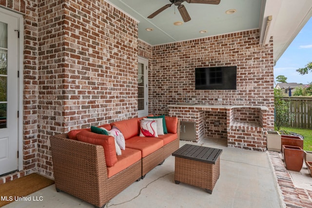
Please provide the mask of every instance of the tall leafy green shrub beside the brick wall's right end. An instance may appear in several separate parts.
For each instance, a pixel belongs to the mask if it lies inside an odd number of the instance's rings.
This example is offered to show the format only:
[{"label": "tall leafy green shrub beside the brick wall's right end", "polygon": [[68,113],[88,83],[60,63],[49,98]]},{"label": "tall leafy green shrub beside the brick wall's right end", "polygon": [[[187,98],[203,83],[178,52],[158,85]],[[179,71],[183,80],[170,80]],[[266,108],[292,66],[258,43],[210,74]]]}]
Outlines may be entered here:
[{"label": "tall leafy green shrub beside the brick wall's right end", "polygon": [[283,100],[284,93],[282,89],[274,88],[274,129],[279,131],[282,126],[289,125],[291,113],[286,100]]}]

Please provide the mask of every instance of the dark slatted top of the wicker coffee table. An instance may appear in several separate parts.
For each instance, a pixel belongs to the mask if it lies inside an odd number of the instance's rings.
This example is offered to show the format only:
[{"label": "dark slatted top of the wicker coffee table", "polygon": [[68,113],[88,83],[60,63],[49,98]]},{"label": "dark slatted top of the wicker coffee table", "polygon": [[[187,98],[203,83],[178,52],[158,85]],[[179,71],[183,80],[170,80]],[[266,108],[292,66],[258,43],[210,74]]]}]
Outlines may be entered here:
[{"label": "dark slatted top of the wicker coffee table", "polygon": [[184,159],[215,164],[221,152],[221,149],[186,144],[172,153],[172,155]]}]

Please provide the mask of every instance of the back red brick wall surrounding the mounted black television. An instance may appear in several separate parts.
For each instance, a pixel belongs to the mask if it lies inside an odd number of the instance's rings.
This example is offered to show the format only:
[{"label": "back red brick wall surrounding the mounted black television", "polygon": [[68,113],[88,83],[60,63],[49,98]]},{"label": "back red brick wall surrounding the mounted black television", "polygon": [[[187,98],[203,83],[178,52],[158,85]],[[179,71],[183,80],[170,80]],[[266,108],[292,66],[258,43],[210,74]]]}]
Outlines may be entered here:
[{"label": "back red brick wall surrounding the mounted black television", "polygon": [[[236,90],[195,90],[195,67],[237,66]],[[259,45],[251,30],[153,47],[150,113],[168,114],[185,99],[216,105],[266,106],[273,129],[273,43]]]}]

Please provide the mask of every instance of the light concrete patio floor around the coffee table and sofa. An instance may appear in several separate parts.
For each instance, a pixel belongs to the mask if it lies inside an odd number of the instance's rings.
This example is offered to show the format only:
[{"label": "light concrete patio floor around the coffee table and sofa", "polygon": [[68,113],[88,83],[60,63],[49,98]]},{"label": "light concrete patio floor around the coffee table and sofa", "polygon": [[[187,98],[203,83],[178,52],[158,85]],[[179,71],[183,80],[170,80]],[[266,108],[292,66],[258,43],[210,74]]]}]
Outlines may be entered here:
[{"label": "light concrete patio floor around the coffee table and sofa", "polygon": [[[202,139],[186,143],[223,149],[220,177],[212,194],[204,189],[174,182],[175,158],[170,156],[163,165],[149,172],[143,180],[133,183],[110,200],[105,208],[280,208],[284,207],[267,152],[227,148],[226,140]],[[31,196],[42,201],[13,202],[3,208],[92,208],[55,185],[41,189]]]}]

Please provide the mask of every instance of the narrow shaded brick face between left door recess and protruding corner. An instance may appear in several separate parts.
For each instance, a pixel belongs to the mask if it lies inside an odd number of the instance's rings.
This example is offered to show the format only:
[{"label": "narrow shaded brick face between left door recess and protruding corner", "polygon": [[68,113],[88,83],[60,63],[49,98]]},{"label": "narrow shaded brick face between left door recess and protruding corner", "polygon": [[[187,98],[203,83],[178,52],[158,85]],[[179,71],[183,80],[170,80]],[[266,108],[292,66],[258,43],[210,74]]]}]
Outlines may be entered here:
[{"label": "narrow shaded brick face between left door recess and protruding corner", "polygon": [[38,171],[52,176],[49,136],[62,132],[64,10],[62,1],[38,2]]}]

